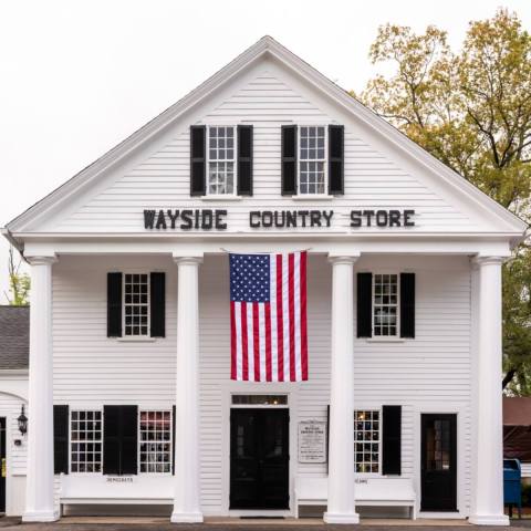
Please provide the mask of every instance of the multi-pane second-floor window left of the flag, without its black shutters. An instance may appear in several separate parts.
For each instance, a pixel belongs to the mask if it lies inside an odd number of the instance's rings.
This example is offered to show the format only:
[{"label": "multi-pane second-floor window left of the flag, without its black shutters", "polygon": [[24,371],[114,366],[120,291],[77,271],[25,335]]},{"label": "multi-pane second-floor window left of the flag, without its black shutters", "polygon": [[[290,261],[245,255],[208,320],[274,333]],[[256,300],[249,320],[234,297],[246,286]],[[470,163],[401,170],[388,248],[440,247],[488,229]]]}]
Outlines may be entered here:
[{"label": "multi-pane second-floor window left of the flag, without its black shutters", "polygon": [[124,274],[124,330],[126,336],[149,331],[149,275]]}]

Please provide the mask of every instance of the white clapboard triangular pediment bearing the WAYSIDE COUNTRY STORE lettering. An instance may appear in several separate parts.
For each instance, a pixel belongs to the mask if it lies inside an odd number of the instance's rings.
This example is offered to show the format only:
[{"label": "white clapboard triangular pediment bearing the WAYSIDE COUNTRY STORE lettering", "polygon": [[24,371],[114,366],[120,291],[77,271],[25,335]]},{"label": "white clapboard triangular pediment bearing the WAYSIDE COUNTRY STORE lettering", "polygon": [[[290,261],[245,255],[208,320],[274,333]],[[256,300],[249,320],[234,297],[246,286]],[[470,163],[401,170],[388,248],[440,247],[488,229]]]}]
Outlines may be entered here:
[{"label": "white clapboard triangular pediment bearing the WAYSIDE COUNTRY STORE lettering", "polygon": [[[252,124],[253,197],[190,197],[189,127]],[[280,194],[280,128],[345,126],[345,192],[298,201]],[[225,206],[223,206],[225,205]],[[228,210],[228,232],[249,211],[333,210],[348,233],[353,210],[414,210],[409,233],[521,233],[524,223],[408,140],[299,58],[264,38],[143,129],[8,225],[46,233],[144,232],[145,209]],[[376,227],[365,230],[378,230]]]}]

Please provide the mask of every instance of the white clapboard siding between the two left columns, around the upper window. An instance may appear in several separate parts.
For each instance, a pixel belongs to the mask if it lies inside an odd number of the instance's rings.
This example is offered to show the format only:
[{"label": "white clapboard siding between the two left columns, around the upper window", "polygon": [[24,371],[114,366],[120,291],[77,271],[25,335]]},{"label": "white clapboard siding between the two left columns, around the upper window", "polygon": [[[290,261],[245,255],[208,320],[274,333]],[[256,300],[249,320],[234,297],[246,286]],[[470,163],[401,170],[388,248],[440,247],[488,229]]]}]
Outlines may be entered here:
[{"label": "white clapboard siding between the two left columns, around the upper window", "polygon": [[[166,337],[106,337],[106,273],[166,272]],[[176,266],[169,257],[64,258],[54,267],[54,400],[145,405],[174,400]]]}]

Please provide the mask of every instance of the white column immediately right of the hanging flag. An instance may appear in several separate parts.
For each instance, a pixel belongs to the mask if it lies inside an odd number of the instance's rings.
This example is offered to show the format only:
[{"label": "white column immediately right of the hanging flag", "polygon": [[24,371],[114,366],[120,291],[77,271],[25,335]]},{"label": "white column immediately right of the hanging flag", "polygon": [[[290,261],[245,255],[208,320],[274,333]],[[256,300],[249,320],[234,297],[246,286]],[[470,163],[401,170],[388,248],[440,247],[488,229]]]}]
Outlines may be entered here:
[{"label": "white column immediately right of the hanging flag", "polygon": [[329,504],[326,523],[358,523],[354,503],[354,262],[332,262]]}]

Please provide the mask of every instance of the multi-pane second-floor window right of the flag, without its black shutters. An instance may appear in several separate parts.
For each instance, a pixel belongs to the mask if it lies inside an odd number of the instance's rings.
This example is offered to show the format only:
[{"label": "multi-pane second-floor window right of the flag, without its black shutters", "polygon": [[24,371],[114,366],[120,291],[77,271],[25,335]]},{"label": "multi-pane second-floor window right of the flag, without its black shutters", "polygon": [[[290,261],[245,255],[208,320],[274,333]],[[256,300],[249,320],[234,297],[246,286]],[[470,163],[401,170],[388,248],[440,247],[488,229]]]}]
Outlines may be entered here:
[{"label": "multi-pane second-floor window right of the flag, without its black shutters", "polygon": [[398,275],[374,275],[374,335],[394,336],[398,332]]}]

